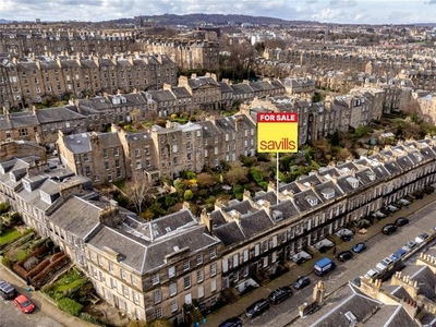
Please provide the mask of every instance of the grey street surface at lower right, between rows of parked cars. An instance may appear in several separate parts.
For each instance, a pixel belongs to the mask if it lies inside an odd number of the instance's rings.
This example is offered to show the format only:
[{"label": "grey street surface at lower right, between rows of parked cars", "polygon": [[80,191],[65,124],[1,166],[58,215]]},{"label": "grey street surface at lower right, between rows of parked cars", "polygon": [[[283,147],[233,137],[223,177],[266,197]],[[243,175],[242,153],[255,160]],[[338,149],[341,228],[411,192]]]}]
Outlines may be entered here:
[{"label": "grey street surface at lower right, between rows of parked cars", "polygon": [[[312,281],[310,287],[295,291],[290,299],[278,305],[271,305],[262,316],[253,319],[249,319],[244,315],[240,316],[243,320],[243,326],[289,326],[293,318],[299,317],[298,306],[312,300],[313,286],[317,280],[325,282],[328,295],[350,280],[363,276],[383,258],[395,253],[408,241],[414,240],[417,234],[422,232],[433,233],[436,225],[436,203],[432,203],[417,213],[409,215],[408,218],[410,223],[399,228],[396,233],[391,235],[378,233],[372,239],[365,240],[367,249],[363,253],[355,254],[351,261],[343,264],[337,262],[338,268],[327,276],[317,277],[311,274],[308,276]],[[362,241],[365,239],[364,235],[355,235],[355,238],[362,238]],[[350,250],[347,249],[347,243],[342,243],[341,246],[342,249],[340,250]],[[289,280],[289,283],[292,282],[293,280]]]}]

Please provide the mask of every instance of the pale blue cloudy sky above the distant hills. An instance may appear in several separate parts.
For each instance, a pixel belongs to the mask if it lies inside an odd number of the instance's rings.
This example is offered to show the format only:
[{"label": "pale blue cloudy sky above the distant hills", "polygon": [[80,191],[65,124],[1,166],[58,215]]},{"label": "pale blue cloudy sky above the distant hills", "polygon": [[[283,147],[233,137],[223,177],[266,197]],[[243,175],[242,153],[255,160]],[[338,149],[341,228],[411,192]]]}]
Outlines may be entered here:
[{"label": "pale blue cloudy sky above the distant hills", "polygon": [[100,22],[166,13],[342,24],[436,23],[436,0],[0,0],[0,19],[11,21]]}]

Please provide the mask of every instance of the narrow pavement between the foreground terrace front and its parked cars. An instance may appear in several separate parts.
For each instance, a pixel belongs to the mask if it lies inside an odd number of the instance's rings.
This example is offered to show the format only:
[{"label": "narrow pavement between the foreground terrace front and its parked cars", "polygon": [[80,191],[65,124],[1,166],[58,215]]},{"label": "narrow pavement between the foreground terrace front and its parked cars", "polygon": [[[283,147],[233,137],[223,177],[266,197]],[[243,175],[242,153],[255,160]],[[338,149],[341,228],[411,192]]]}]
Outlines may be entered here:
[{"label": "narrow pavement between the foreground terrace front and its parked cars", "polygon": [[[364,233],[364,234],[355,233],[354,238],[348,242],[342,242],[338,238],[339,241],[336,243],[336,250],[330,249],[326,253],[315,253],[313,258],[305,262],[304,264],[292,265],[292,267],[290,268],[290,270],[288,272],[271,280],[269,283],[255,289],[254,291],[244,295],[243,298],[240,298],[237,302],[226,305],[226,306],[221,307],[220,310],[206,316],[206,323],[202,324],[201,326],[216,327],[220,323],[226,320],[227,318],[243,315],[245,313],[245,308],[249,305],[251,305],[253,302],[255,302],[259,299],[268,298],[269,293],[274,289],[292,283],[299,276],[311,275],[313,272],[313,265],[318,258],[320,258],[323,256],[328,256],[330,258],[334,258],[334,256],[335,256],[334,251],[336,251],[336,254],[338,254],[341,251],[351,250],[356,243],[365,242],[365,241],[372,239],[373,237],[379,234],[382,232],[382,228],[386,223],[393,223],[397,218],[408,217],[408,215],[410,215],[412,213],[416,213],[421,208],[423,208],[434,202],[436,202],[436,192],[434,192],[429,195],[425,194],[423,198],[413,201],[412,204],[410,204],[408,207],[403,206],[397,213],[391,213],[388,217],[383,218],[382,220],[374,219],[374,225],[366,229],[366,233]],[[290,320],[291,320],[291,317],[287,324],[283,324],[281,326],[288,325],[290,323]],[[275,326],[275,327],[279,327],[279,326]]]}]

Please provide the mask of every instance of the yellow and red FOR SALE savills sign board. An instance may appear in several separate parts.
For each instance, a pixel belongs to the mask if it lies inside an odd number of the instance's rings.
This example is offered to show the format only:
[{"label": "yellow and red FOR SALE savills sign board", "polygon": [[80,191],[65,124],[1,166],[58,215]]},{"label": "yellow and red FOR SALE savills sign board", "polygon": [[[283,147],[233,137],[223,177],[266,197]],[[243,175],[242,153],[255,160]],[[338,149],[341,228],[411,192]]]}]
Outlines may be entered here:
[{"label": "yellow and red FOR SALE savills sign board", "polygon": [[299,116],[295,112],[257,113],[258,153],[296,153]]}]

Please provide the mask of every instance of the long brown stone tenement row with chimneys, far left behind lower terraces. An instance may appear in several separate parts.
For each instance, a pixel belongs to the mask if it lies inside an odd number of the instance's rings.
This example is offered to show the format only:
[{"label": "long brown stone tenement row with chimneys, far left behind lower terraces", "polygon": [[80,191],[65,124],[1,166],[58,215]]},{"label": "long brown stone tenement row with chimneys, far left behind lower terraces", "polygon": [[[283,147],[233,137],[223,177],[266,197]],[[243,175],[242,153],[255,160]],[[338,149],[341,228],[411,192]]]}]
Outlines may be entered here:
[{"label": "long brown stone tenement row with chimneys, far left behind lower terraces", "polygon": [[77,98],[118,90],[158,89],[175,85],[177,69],[165,55],[134,53],[113,57],[32,57],[4,59],[0,80],[1,107],[22,108],[45,97]]}]

